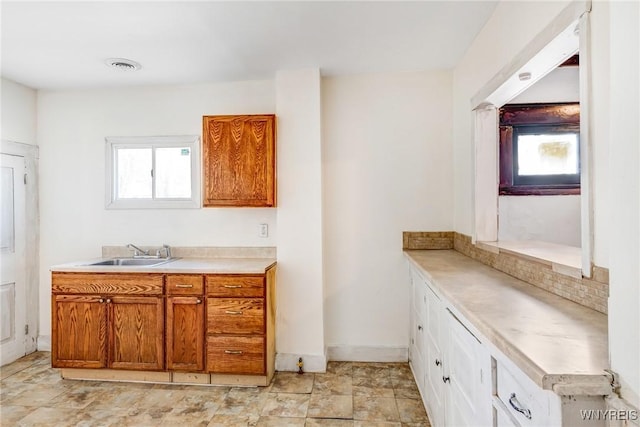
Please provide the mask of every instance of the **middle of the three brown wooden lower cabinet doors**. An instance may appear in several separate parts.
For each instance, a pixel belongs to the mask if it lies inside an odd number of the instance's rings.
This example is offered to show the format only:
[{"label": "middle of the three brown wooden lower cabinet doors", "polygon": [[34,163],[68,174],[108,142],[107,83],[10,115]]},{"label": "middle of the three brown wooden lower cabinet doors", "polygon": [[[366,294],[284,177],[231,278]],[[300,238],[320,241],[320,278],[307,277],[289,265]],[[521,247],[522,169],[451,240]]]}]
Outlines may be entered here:
[{"label": "middle of the three brown wooden lower cabinet doors", "polygon": [[163,298],[114,296],[108,307],[110,367],[164,369]]}]

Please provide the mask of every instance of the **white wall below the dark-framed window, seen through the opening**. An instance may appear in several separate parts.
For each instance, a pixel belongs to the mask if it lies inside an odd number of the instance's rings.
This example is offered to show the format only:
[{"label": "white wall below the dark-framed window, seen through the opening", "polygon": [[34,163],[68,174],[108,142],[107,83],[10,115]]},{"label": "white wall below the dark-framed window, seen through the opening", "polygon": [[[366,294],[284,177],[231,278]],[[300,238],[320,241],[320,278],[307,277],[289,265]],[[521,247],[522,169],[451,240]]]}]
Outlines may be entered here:
[{"label": "white wall below the dark-framed window, seen through the opening", "polygon": [[498,240],[580,247],[580,196],[500,196]]}]

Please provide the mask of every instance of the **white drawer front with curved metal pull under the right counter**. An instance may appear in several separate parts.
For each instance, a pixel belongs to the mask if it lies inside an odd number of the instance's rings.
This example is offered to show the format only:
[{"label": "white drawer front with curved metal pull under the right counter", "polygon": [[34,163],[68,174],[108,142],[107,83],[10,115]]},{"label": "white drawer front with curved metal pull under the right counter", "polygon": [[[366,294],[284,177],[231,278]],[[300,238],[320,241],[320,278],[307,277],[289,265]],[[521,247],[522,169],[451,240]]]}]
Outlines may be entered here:
[{"label": "white drawer front with curved metal pull under the right counter", "polygon": [[498,399],[520,425],[549,425],[549,399],[524,373],[512,372],[500,361],[496,364]]}]

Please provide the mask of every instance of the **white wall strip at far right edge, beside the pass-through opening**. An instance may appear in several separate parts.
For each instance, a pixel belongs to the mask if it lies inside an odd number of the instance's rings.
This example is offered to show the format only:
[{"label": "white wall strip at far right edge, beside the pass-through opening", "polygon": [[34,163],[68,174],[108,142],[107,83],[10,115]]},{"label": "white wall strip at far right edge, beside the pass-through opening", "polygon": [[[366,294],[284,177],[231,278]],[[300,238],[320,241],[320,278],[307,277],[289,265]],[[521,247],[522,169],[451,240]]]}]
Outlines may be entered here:
[{"label": "white wall strip at far right edge, beside the pass-through opening", "polygon": [[621,396],[640,409],[640,3],[611,2],[609,351]]}]

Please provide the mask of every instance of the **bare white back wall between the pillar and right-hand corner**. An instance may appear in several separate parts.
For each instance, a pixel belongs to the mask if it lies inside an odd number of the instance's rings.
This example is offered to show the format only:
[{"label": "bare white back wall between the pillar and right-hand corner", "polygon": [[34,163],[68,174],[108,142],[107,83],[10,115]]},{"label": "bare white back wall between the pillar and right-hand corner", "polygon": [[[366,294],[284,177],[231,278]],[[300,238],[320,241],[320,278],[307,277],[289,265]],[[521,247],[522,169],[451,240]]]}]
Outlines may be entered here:
[{"label": "bare white back wall between the pillar and right-hand corner", "polygon": [[329,355],[406,360],[402,231],[452,227],[451,73],[324,78],[322,98]]}]

